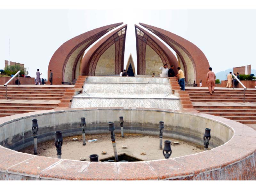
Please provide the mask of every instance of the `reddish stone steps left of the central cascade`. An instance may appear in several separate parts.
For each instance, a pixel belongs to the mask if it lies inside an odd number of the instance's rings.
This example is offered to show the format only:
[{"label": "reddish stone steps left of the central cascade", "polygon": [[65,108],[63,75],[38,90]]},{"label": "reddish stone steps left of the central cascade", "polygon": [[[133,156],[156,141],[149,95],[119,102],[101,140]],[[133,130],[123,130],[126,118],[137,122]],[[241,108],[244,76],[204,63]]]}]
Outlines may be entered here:
[{"label": "reddish stone steps left of the central cascade", "polygon": [[0,86],[0,117],[50,110],[58,107],[66,89],[74,85],[10,85]]}]

